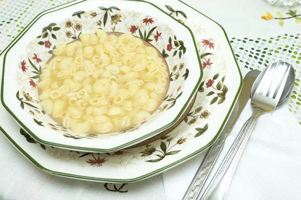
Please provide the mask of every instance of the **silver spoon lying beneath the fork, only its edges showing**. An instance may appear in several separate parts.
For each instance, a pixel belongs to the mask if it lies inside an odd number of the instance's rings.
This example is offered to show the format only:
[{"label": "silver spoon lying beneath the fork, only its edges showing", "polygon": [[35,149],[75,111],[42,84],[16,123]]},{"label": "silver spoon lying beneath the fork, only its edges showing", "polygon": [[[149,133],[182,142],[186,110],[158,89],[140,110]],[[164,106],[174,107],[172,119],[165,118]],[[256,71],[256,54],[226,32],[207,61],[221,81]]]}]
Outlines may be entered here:
[{"label": "silver spoon lying beneath the fork, only its edges showing", "polygon": [[[285,63],[285,64],[288,64],[288,63]],[[267,68],[265,68],[258,75],[258,77],[255,80],[254,84],[257,84],[257,85],[259,84],[259,81],[262,79],[263,75],[265,74],[266,69]],[[286,101],[286,99],[291,95],[291,91],[293,89],[293,85],[294,85],[293,83],[294,83],[295,78],[294,78],[294,69],[293,69],[293,67],[290,67],[289,70],[290,71],[288,73],[291,74],[291,78],[290,77],[287,78],[286,83],[284,85],[283,92],[282,92],[281,97],[280,97],[280,100],[279,100],[276,107],[279,107],[280,105],[282,105]],[[255,89],[253,88],[251,90],[251,96],[253,96],[254,93],[255,93]],[[243,128],[245,128],[245,126],[243,126],[242,129]],[[241,136],[242,135],[240,135],[240,137],[238,139],[241,139]],[[238,155],[238,159],[239,159],[240,156],[241,156],[241,153]],[[230,187],[233,175],[234,175],[234,172],[235,172],[236,167],[237,167],[237,164],[238,164],[238,162],[236,161],[236,162],[232,163],[229,166],[228,170],[225,172],[224,177],[222,178],[221,182],[219,183],[218,188],[216,188],[214,190],[214,192],[212,193],[212,195],[210,195],[210,199],[222,199],[222,200],[226,199],[228,191],[229,191],[229,187]]]}]

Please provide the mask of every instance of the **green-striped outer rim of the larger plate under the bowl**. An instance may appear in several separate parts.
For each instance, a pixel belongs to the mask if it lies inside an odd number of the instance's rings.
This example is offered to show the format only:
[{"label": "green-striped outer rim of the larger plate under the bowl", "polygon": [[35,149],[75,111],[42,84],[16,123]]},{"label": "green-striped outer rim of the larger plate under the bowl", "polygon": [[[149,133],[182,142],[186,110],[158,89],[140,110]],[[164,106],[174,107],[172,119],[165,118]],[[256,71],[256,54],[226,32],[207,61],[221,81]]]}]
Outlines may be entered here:
[{"label": "green-striped outer rim of the larger plate under the bowl", "polygon": [[[192,9],[196,10],[197,12],[199,12],[199,13],[202,14],[202,15],[204,15],[204,16],[207,17],[208,19],[214,21],[213,19],[209,18],[208,16],[206,16],[206,15],[203,14],[203,13],[201,13],[201,12],[198,11],[197,9],[191,7],[190,5],[186,4],[185,2],[183,2],[183,1],[181,1],[181,0],[178,0],[178,1],[182,2],[183,4],[187,5],[188,7],[190,7],[190,8],[192,8]],[[81,2],[82,2],[82,1],[81,1]],[[70,2],[68,2],[68,3],[70,3]],[[67,3],[65,3],[65,4],[67,4]],[[63,4],[63,5],[64,5],[64,4]],[[60,5],[60,6],[62,6],[62,5]],[[58,7],[59,7],[59,6],[58,6]],[[54,8],[51,8],[51,9],[56,9],[56,8],[57,8],[57,7],[54,7]],[[48,9],[48,10],[50,10],[50,9]],[[48,10],[45,10],[44,12],[46,12],[46,11],[48,11]],[[41,12],[41,13],[43,13],[43,12]],[[41,14],[41,13],[40,13],[40,14]],[[38,14],[38,15],[39,15],[39,14]],[[37,15],[37,16],[38,16],[38,15]],[[37,16],[36,16],[36,17],[37,17]],[[33,20],[34,20],[34,19],[33,19]],[[33,20],[32,20],[32,21],[33,21]],[[32,22],[32,21],[31,21],[31,22]],[[30,22],[30,23],[31,23],[31,22]],[[51,169],[48,169],[48,168],[44,167],[44,166],[41,165],[39,162],[37,162],[31,155],[29,155],[22,147],[20,147],[19,144],[16,143],[15,140],[12,139],[12,137],[11,137],[11,136],[10,136],[10,135],[2,128],[1,125],[0,125],[0,131],[2,131],[2,132],[4,133],[4,135],[9,139],[9,141],[10,141],[10,142],[11,142],[11,143],[12,143],[12,144],[13,144],[13,145],[14,145],[14,146],[22,153],[22,154],[24,154],[24,155],[25,155],[25,156],[26,156],[33,164],[35,164],[35,165],[36,165],[38,168],[40,168],[41,170],[43,170],[43,171],[45,171],[45,172],[48,172],[48,173],[51,173],[51,174],[54,174],[54,175],[65,176],[65,177],[72,177],[72,178],[79,178],[79,179],[84,179],[84,180],[109,181],[109,182],[120,182],[120,183],[134,182],[134,181],[138,181],[138,180],[144,179],[144,178],[146,178],[146,177],[155,175],[155,174],[157,174],[157,173],[163,172],[163,170],[165,170],[165,169],[167,169],[167,168],[170,168],[171,166],[177,165],[177,164],[181,163],[182,161],[189,159],[189,158],[192,157],[192,156],[195,156],[196,154],[202,152],[202,151],[205,150],[207,147],[209,147],[210,145],[212,145],[213,142],[216,140],[216,138],[219,136],[219,134],[220,134],[220,132],[222,131],[222,129],[223,129],[225,123],[226,123],[227,120],[229,119],[229,115],[231,114],[231,112],[232,112],[232,110],[233,110],[233,107],[234,107],[234,105],[235,105],[235,103],[236,103],[236,101],[237,101],[238,95],[239,95],[239,93],[240,93],[240,91],[241,91],[241,88],[242,88],[242,82],[243,82],[243,81],[242,81],[242,80],[243,80],[242,74],[241,74],[239,65],[238,65],[238,63],[237,63],[237,60],[236,60],[236,58],[235,58],[234,51],[233,51],[233,49],[232,49],[232,46],[231,46],[230,41],[229,41],[229,39],[228,39],[228,36],[227,36],[227,34],[226,34],[226,31],[224,30],[224,28],[223,28],[219,23],[217,23],[216,21],[214,21],[214,22],[215,22],[216,24],[218,24],[218,25],[222,28],[222,30],[223,30],[223,32],[224,32],[224,34],[225,34],[225,37],[226,37],[226,39],[227,39],[227,41],[228,41],[228,44],[229,44],[229,46],[230,46],[230,49],[231,49],[231,51],[232,51],[232,54],[233,54],[233,57],[234,57],[234,60],[235,60],[235,63],[236,63],[237,69],[238,69],[238,73],[239,73],[239,75],[240,75],[240,84],[239,84],[238,90],[237,90],[237,92],[236,92],[236,95],[235,95],[235,97],[234,97],[234,99],[233,99],[233,102],[232,102],[232,104],[231,104],[231,106],[230,106],[230,108],[229,108],[229,111],[228,111],[227,115],[225,116],[225,119],[224,119],[223,123],[221,124],[221,127],[219,128],[219,130],[217,131],[217,133],[216,133],[216,135],[213,137],[213,139],[212,139],[208,144],[206,144],[205,146],[203,146],[202,148],[200,148],[200,149],[194,151],[193,153],[191,153],[191,154],[189,154],[189,155],[183,157],[182,159],[179,159],[179,160],[177,160],[177,161],[175,161],[175,162],[173,162],[173,163],[170,163],[170,164],[168,164],[168,165],[166,165],[166,166],[164,166],[164,167],[161,167],[161,168],[159,168],[159,169],[157,169],[157,170],[155,170],[155,171],[152,171],[152,172],[146,173],[146,174],[144,174],[144,175],[142,175],[142,176],[138,176],[138,177],[131,178],[131,179],[114,179],[114,178],[100,178],[100,177],[92,177],[92,176],[82,176],[82,175],[76,175],[76,174],[70,174],[70,173],[64,173],[64,172],[58,172],[58,171],[54,171],[54,170],[51,170]],[[29,24],[30,24],[30,23],[29,23]],[[26,28],[27,28],[27,26],[25,27],[25,29],[26,29]],[[24,29],[24,30],[25,30],[25,29]],[[22,32],[23,32],[23,31],[22,31]],[[21,32],[21,33],[22,33],[22,32]],[[21,33],[20,33],[20,34],[21,34]],[[20,34],[19,34],[19,35],[20,35]],[[19,35],[18,35],[18,36],[19,36]],[[16,38],[18,38],[18,36],[17,36]],[[15,38],[15,39],[16,39],[16,38]],[[14,39],[14,40],[15,40],[15,39]],[[12,42],[14,42],[14,40],[13,40]],[[2,53],[0,53],[0,56],[7,50],[7,48],[8,48],[9,46],[10,46],[10,44],[3,50]]]}]

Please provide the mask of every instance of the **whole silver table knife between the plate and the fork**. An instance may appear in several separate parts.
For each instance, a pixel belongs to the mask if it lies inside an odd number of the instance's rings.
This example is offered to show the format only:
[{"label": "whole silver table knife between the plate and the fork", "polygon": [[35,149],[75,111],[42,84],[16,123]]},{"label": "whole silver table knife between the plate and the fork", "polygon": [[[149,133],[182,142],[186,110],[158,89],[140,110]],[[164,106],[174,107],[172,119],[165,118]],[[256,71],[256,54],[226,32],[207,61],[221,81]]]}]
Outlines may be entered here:
[{"label": "whole silver table knife between the plate and the fork", "polygon": [[193,178],[183,197],[183,200],[195,200],[200,194],[200,191],[224,146],[226,137],[234,127],[240,113],[242,112],[243,108],[250,98],[252,85],[259,73],[259,70],[251,70],[243,78],[243,87],[234,106],[234,109],[229,117],[229,120],[227,121],[223,131],[221,132],[215,143],[211,145],[211,147],[209,147],[207,154],[203,159],[203,162],[201,163],[195,177]]}]

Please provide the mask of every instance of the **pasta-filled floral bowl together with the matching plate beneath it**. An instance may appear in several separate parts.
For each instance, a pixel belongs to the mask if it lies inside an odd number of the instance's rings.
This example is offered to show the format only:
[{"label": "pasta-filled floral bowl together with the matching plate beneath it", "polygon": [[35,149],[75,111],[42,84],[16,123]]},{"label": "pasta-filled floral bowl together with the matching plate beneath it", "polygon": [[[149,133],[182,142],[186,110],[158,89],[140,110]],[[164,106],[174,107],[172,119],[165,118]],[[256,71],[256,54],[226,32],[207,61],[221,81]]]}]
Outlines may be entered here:
[{"label": "pasta-filled floral bowl together with the matching plate beneath it", "polygon": [[[129,40],[140,49],[129,50]],[[148,46],[145,51],[139,47],[144,46],[140,41]],[[83,46],[72,47],[76,45]],[[89,45],[98,56],[92,54],[91,59],[98,65],[75,66],[85,73],[85,80],[76,79],[76,71],[64,67],[71,55],[68,67],[77,58],[90,59]],[[78,50],[81,47],[83,54]],[[122,61],[119,65],[118,59],[112,61],[116,52]],[[124,58],[133,55],[131,52],[135,56]],[[141,57],[137,63],[144,68],[134,69],[137,53],[143,54],[146,63],[164,63],[169,72],[161,72],[164,67],[156,72],[150,65],[145,69]],[[103,54],[113,64],[104,64]],[[165,5],[159,0],[78,0],[46,10],[2,52],[0,63],[2,132],[42,170],[95,181],[141,180],[203,151],[219,135],[242,86],[224,29],[182,1],[173,0]],[[93,76],[96,70],[103,71]],[[114,79],[114,73],[122,78]],[[138,77],[132,77],[135,74]],[[50,80],[52,77],[59,79]],[[103,79],[109,83],[97,86],[95,82]],[[56,86],[56,81],[65,87]],[[105,102],[103,96],[115,91],[112,82],[119,89],[112,97],[129,92],[130,106],[116,100],[112,100],[115,104]],[[130,84],[140,90],[132,90]],[[105,86],[106,93],[97,93]],[[91,88],[88,99],[79,96],[83,88]],[[69,97],[73,91],[74,104]],[[146,104],[138,102],[144,96]],[[64,108],[64,99],[69,107]],[[95,104],[94,100],[101,102]]]}]

